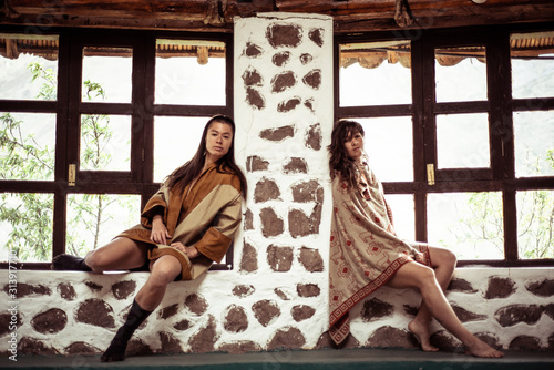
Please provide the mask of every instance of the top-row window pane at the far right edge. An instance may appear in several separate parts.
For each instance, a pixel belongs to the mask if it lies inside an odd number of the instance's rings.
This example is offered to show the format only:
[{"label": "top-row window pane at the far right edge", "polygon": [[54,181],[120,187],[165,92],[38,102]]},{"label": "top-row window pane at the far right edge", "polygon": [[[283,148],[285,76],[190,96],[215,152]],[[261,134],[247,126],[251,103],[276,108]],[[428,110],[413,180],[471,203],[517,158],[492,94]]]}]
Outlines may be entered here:
[{"label": "top-row window pane at the far right edge", "polygon": [[512,94],[554,96],[554,31],[512,34]]}]

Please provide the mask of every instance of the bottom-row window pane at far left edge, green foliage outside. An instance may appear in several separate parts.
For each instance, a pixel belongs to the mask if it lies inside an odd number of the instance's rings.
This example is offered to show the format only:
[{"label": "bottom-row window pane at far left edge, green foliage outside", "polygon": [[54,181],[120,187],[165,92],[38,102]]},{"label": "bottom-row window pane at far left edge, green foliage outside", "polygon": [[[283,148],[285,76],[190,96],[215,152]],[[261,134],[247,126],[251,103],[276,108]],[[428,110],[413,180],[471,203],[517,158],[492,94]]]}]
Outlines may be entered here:
[{"label": "bottom-row window pane at far left edge, green foliage outside", "polygon": [[0,260],[52,260],[54,196],[41,193],[0,194]]}]

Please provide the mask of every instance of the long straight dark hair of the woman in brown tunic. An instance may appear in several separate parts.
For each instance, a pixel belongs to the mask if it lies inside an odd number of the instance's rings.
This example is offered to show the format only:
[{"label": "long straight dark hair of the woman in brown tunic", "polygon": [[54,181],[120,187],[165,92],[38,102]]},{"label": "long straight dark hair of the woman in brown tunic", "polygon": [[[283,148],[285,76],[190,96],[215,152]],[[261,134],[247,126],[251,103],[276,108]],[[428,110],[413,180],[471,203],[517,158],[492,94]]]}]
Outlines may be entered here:
[{"label": "long straight dark hair of the woman in brown tunic", "polygon": [[204,132],[202,133],[202,140],[201,143],[198,144],[198,150],[196,151],[196,154],[193,156],[191,161],[188,161],[187,163],[175,169],[170,175],[168,186],[170,187],[178,186],[179,188],[185,188],[186,185],[188,185],[194,178],[196,178],[202,173],[202,169],[204,168],[204,155],[206,153],[207,131],[209,129],[209,125],[214,122],[228,124],[233,129],[233,140],[230,142],[229,151],[227,152],[227,154],[225,154],[217,161],[217,172],[227,174],[232,173],[237,175],[238,178],[240,179],[240,189],[243,196],[246,198],[246,192],[248,188],[246,184],[246,177],[235,163],[235,131],[236,131],[235,121],[233,121],[233,119],[230,119],[229,116],[223,114],[214,115],[208,120],[208,122],[204,126]]}]

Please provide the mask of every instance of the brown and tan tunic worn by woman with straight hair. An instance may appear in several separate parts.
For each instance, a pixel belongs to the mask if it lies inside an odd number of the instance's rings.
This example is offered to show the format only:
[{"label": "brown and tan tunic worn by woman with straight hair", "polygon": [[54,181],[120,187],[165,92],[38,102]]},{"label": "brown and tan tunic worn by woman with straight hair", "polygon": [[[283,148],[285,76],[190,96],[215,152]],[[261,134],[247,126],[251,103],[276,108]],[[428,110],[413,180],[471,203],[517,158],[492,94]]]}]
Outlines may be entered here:
[{"label": "brown and tan tunic worn by woman with straight hair", "polygon": [[[172,235],[167,246],[155,245],[150,240],[152,218],[155,214],[162,214],[167,232]],[[240,215],[238,176],[218,173],[217,165],[212,164],[196,182],[183,191],[170,189],[167,183],[163,184],[146,203],[141,214],[141,224],[119,236],[151,244],[150,259],[167,254],[177,257],[183,266],[182,279],[189,280],[205,273],[213,261],[222,260],[240,224]],[[196,247],[201,256],[189,259],[185,254],[168,246],[173,241]]]}]

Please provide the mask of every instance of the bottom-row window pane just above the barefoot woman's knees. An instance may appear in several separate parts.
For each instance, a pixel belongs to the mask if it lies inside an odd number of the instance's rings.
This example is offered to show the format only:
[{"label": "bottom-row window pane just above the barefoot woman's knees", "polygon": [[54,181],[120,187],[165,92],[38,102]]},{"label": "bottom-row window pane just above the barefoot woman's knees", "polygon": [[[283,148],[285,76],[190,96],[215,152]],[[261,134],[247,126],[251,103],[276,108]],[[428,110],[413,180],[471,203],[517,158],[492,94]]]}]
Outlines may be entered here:
[{"label": "bottom-row window pane just above the barefoot woman's knees", "polygon": [[503,259],[502,193],[429,194],[428,236],[459,259]]}]

